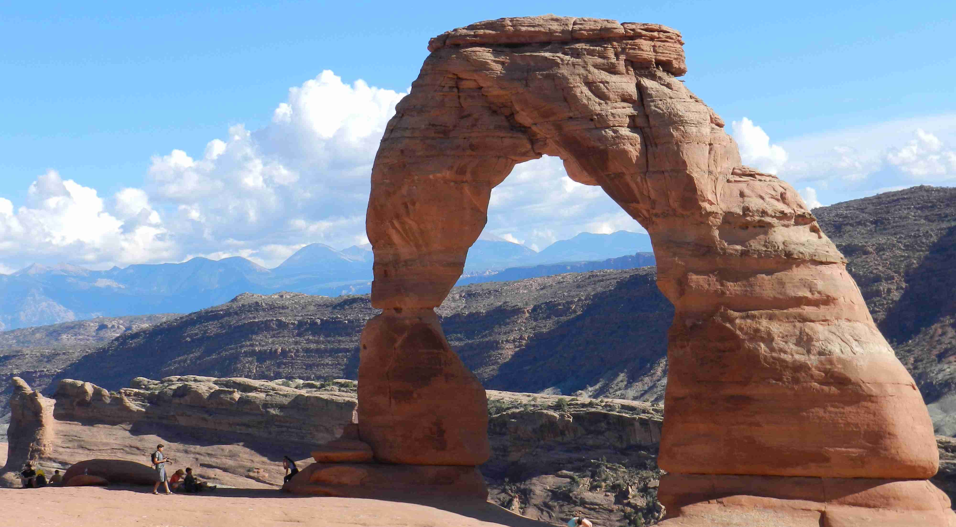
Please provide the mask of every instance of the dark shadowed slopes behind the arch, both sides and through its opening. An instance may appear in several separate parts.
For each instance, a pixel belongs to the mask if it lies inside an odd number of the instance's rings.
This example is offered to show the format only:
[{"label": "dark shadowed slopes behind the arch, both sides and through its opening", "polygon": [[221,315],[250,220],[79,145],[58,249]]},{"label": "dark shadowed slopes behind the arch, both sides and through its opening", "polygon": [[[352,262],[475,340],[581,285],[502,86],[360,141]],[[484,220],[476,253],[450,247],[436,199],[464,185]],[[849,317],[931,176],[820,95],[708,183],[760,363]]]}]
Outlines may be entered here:
[{"label": "dark shadowed slopes behind the arch, both sides and through its opening", "polygon": [[[814,210],[880,328],[956,434],[956,189],[914,187]],[[366,296],[240,295],[120,335],[63,372],[133,377],[355,378]],[[452,347],[492,390],[661,401],[672,307],[651,267],[456,287],[439,309]]]}]

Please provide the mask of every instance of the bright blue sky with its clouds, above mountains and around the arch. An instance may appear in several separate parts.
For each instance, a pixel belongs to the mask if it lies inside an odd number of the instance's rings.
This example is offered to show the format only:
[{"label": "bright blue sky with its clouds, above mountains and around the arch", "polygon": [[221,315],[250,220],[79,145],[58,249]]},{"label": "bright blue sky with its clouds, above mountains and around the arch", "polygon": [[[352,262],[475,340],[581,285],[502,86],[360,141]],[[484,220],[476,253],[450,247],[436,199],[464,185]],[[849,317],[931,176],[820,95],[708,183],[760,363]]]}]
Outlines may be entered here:
[{"label": "bright blue sky with its clouds, above mountains and around the arch", "polygon": [[[948,157],[956,149],[953,2],[134,4],[14,2],[3,10],[0,200],[10,203],[8,216],[20,215],[20,239],[0,222],[0,272],[33,261],[102,267],[201,254],[241,254],[271,266],[304,242],[361,242],[357,218],[363,207],[281,217],[277,211],[294,209],[283,200],[293,198],[277,193],[267,204],[270,214],[249,196],[220,196],[223,202],[204,209],[176,194],[185,192],[182,186],[171,186],[184,177],[185,165],[163,158],[183,151],[196,162],[210,141],[222,139],[229,149],[246,149],[233,165],[255,158],[265,163],[266,179],[292,177],[276,176],[278,165],[269,168],[269,159],[285,156],[310,159],[313,172],[302,164],[282,165],[298,167],[297,181],[336,179],[339,173],[359,180],[367,163],[353,150],[374,151],[375,127],[355,128],[364,114],[330,117],[329,134],[319,133],[330,141],[322,155],[287,151],[294,132],[276,124],[275,112],[280,104],[293,104],[290,89],[300,88],[302,108],[315,108],[303,94],[329,101],[340,95],[345,98],[324,108],[334,113],[337,104],[351,101],[387,119],[387,107],[417,75],[429,37],[501,16],[554,12],[662,23],[683,32],[687,86],[728,123],[737,122],[734,136],[750,152],[751,164],[776,170],[808,201],[826,204],[921,182],[956,183],[956,161],[949,164]],[[307,87],[323,71],[340,80],[327,74]],[[356,88],[359,79],[368,91]],[[317,112],[308,126],[328,128]],[[237,125],[241,129],[230,133]],[[352,130],[343,133],[351,138],[332,137],[339,129]],[[276,144],[269,146],[270,140]],[[227,181],[228,163],[212,161],[216,166],[197,178]],[[492,216],[495,234],[541,248],[576,229],[639,230],[594,189],[554,179],[560,176],[554,160],[526,165],[496,190],[496,202],[524,216]],[[547,188],[591,204],[578,207],[577,217],[547,217],[543,211],[554,203],[524,199],[540,195],[535,185],[548,178]],[[332,187],[330,192],[361,193],[360,184]],[[50,218],[57,213],[44,212],[41,201],[57,195],[69,195],[76,206]],[[67,205],[57,206],[62,211]],[[237,226],[243,220],[223,212],[237,207],[245,207],[248,225]],[[0,201],[0,221],[3,210]],[[97,224],[77,224],[90,215]],[[216,215],[228,229],[210,220]],[[540,224],[528,221],[535,215]],[[39,229],[29,237],[28,223]],[[517,223],[534,226],[521,230]],[[285,234],[272,236],[276,229]],[[44,241],[24,250],[24,240],[38,239]]]}]

